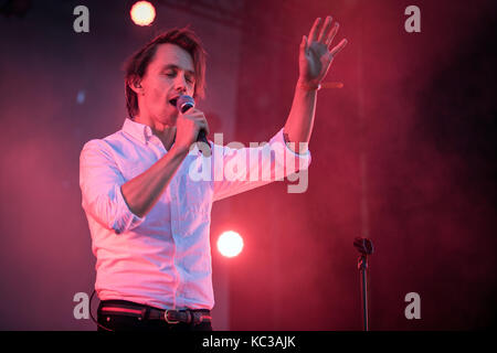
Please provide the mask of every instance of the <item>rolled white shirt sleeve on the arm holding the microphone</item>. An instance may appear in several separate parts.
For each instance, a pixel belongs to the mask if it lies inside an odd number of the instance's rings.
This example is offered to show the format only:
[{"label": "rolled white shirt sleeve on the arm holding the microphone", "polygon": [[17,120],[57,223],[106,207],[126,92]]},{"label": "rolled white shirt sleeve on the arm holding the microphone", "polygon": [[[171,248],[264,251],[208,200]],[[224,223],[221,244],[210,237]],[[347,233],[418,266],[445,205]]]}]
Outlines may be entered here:
[{"label": "rolled white shirt sleeve on the arm holding the microphone", "polygon": [[87,216],[116,234],[133,229],[145,221],[134,214],[123,197],[123,173],[103,140],[88,141],[80,156],[82,206]]}]

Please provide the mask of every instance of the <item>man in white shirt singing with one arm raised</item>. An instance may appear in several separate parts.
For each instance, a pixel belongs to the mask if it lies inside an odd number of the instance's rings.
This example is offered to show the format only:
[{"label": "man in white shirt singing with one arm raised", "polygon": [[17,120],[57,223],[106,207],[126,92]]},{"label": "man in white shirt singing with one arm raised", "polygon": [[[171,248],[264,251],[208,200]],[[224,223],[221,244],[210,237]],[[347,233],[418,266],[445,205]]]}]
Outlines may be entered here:
[{"label": "man in white shirt singing with one arm raised", "polygon": [[267,163],[274,174],[288,156],[307,169],[317,90],[347,44],[342,40],[331,47],[338,31],[331,23],[331,17],[317,19],[302,39],[292,109],[268,142],[283,146],[274,148],[274,159],[264,157],[263,147],[246,148],[248,156],[258,156],[247,162],[236,160],[244,154],[229,147],[197,142],[200,131],[209,135],[204,114],[177,108],[180,96],[203,97],[205,53],[191,30],[168,31],[130,57],[129,118],[121,130],[88,141],[80,159],[82,205],[97,259],[98,330],[212,330],[212,203],[268,181],[199,180],[191,171],[205,162],[212,173],[243,162],[246,172]]}]

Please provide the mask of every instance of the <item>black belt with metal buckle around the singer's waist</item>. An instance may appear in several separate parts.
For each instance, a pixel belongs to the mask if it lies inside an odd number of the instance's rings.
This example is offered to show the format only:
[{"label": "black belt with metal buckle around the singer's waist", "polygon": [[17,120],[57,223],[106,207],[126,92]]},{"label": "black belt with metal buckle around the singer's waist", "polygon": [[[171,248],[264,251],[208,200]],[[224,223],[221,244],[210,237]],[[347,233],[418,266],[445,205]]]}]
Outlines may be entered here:
[{"label": "black belt with metal buckle around the singer's waist", "polygon": [[102,314],[135,317],[141,320],[163,320],[171,324],[179,322],[199,324],[212,320],[211,312],[207,309],[163,310],[149,306],[103,301],[98,310]]}]

